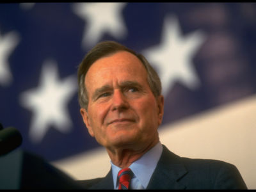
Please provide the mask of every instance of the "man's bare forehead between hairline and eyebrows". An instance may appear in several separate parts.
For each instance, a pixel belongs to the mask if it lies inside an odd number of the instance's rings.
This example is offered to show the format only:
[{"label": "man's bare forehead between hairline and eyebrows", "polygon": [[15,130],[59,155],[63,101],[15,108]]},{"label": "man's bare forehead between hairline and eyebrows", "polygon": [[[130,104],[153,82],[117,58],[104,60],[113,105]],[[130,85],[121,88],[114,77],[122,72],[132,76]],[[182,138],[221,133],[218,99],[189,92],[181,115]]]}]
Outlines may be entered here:
[{"label": "man's bare forehead between hairline and eyebrows", "polygon": [[104,82],[115,78],[121,80],[125,77],[140,77],[147,81],[147,70],[134,54],[120,51],[95,61],[86,74],[85,82],[93,80]]}]

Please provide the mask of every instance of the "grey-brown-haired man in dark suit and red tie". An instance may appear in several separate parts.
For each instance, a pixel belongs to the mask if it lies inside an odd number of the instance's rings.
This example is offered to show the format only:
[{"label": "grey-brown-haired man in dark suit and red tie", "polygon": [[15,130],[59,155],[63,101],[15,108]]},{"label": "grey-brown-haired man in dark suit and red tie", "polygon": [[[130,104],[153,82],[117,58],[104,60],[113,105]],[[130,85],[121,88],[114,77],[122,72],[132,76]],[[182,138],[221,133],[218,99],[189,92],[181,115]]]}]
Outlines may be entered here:
[{"label": "grey-brown-haired man in dark suit and red tie", "polygon": [[100,42],[79,65],[78,81],[84,124],[111,159],[106,177],[80,180],[84,188],[246,189],[236,166],[179,157],[160,143],[161,81],[141,54]]}]

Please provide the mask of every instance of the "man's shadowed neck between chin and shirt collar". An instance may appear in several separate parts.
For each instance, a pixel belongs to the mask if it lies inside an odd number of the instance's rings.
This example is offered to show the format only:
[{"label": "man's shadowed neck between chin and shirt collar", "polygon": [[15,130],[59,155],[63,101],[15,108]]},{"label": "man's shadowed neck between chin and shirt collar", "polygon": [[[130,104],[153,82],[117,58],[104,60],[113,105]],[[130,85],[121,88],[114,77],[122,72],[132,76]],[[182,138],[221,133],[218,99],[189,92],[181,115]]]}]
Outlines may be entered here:
[{"label": "man's shadowed neck between chin and shirt collar", "polygon": [[108,155],[113,164],[120,168],[129,167],[134,161],[140,159],[150,148],[154,147],[159,140],[152,141],[147,145],[136,148],[107,148]]}]

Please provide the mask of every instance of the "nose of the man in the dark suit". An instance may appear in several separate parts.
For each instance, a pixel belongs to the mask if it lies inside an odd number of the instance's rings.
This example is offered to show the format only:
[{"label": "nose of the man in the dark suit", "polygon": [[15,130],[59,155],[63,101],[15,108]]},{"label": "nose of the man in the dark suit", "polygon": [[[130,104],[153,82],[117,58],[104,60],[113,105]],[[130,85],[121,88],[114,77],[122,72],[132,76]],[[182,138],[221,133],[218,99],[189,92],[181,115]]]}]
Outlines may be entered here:
[{"label": "nose of the man in the dark suit", "polygon": [[112,98],[112,110],[124,110],[129,108],[129,102],[125,98],[125,95],[120,90],[115,90]]}]

